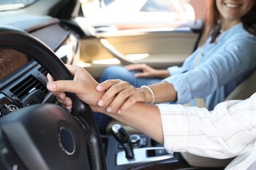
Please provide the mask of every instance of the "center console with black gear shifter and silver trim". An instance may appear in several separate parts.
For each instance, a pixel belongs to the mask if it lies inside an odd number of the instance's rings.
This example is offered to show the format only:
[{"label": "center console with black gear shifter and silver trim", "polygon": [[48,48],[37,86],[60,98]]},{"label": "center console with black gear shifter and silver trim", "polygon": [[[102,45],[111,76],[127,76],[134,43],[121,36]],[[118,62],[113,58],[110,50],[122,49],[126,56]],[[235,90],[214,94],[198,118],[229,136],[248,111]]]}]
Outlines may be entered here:
[{"label": "center console with black gear shifter and silver trim", "polygon": [[179,153],[169,154],[162,144],[146,135],[129,135],[120,126],[114,130],[113,135],[102,135],[108,169],[190,167]]}]

